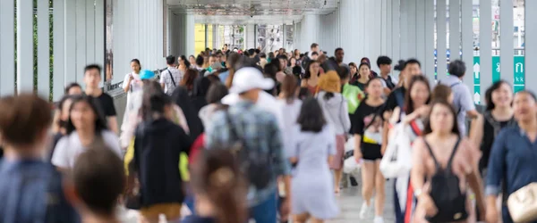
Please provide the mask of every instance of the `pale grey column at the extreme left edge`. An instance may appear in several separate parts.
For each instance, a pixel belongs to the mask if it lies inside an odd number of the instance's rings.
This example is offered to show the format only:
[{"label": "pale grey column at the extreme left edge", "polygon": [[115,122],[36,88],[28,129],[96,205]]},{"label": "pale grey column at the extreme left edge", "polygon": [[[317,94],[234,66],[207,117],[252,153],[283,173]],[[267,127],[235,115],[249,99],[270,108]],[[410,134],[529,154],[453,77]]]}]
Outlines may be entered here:
[{"label": "pale grey column at the extreme left edge", "polygon": [[13,0],[0,1],[0,95],[15,93],[15,11]]}]

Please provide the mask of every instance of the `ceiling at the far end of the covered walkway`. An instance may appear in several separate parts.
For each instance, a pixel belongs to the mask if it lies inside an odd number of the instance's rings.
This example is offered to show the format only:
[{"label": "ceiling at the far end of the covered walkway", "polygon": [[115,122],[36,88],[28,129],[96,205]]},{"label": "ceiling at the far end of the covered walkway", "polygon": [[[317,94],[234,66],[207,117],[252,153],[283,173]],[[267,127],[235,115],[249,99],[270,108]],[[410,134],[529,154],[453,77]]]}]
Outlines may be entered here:
[{"label": "ceiling at the far end of the covered walkway", "polygon": [[292,24],[304,14],[334,12],[339,0],[167,0],[173,12],[209,24]]}]

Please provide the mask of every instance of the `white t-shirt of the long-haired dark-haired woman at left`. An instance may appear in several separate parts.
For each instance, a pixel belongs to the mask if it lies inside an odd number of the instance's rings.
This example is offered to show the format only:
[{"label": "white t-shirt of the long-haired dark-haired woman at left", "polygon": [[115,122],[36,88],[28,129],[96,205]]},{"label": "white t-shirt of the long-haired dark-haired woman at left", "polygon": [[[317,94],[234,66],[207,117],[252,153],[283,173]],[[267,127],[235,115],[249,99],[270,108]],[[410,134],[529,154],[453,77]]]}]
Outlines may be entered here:
[{"label": "white t-shirt of the long-haired dark-haired woman at left", "polygon": [[[119,148],[119,139],[109,130],[101,133],[103,141],[108,145],[119,157],[122,156]],[[76,158],[86,150],[82,146],[81,139],[76,131],[69,136],[64,136],[55,146],[54,154],[52,155],[52,164],[58,168],[72,169]]]}]

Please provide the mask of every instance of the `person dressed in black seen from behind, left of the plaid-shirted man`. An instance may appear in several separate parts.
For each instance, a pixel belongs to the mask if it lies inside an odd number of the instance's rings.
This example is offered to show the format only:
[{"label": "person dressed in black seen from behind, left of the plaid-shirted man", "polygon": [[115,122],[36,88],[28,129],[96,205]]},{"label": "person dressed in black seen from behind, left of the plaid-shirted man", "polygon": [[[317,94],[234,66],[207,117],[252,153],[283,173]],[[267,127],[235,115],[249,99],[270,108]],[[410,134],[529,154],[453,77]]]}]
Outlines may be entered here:
[{"label": "person dressed in black seen from behind, left of the plaid-shirted man", "polygon": [[[158,223],[179,222],[184,199],[180,154],[188,153],[192,140],[169,119],[171,99],[158,85],[143,93],[142,122],[136,128],[129,172],[140,180],[141,219]],[[156,174],[160,173],[160,174]]]}]

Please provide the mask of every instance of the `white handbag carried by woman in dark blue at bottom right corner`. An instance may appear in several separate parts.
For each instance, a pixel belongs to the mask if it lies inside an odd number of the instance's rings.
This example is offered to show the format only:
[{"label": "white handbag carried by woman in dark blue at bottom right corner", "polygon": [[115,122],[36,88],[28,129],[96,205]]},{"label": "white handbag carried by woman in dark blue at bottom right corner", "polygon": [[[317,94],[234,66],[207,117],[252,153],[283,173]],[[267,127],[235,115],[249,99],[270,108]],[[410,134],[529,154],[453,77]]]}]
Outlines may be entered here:
[{"label": "white handbag carried by woman in dark blue at bottom right corner", "polygon": [[537,219],[537,183],[518,189],[509,195],[507,208],[514,222],[531,222]]}]

